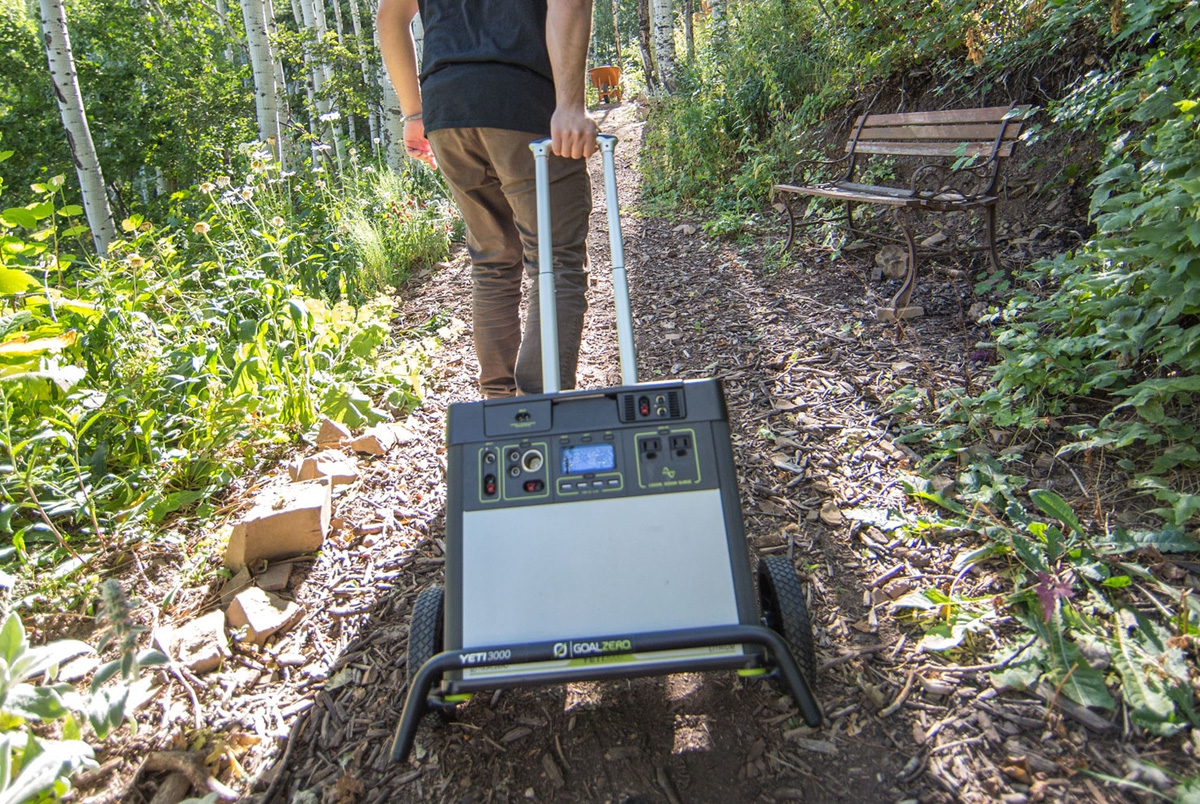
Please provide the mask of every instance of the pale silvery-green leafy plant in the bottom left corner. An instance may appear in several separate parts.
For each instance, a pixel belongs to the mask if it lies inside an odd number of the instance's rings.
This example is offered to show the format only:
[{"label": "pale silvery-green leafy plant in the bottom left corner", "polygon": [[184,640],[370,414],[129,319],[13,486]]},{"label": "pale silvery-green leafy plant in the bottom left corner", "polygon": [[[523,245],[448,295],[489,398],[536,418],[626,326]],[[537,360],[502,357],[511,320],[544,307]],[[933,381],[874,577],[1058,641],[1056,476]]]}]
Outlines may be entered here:
[{"label": "pale silvery-green leafy plant in the bottom left corner", "polygon": [[[142,629],[132,625],[131,605],[115,582],[106,584],[101,606],[119,656],[96,671],[88,694],[54,679],[62,662],[92,653],[91,646],[76,640],[31,646],[16,613],[0,626],[0,803],[64,796],[73,773],[96,767],[77,716],[86,716],[96,738],[104,739],[124,722],[130,685],[139,670],[167,661],[155,650],[137,650]],[[35,683],[40,677],[42,683]],[[60,722],[58,738],[46,737],[44,727],[35,736],[31,724],[54,721]]]}]

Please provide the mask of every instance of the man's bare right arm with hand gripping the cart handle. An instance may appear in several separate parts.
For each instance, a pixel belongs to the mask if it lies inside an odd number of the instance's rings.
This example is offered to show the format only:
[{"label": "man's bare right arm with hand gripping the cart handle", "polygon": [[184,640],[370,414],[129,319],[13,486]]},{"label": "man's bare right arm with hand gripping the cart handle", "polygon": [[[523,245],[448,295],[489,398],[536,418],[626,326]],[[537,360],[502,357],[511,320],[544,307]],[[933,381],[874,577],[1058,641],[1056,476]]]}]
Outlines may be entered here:
[{"label": "man's bare right arm with hand gripping the cart handle", "polygon": [[[379,11],[383,13],[382,6]],[[583,85],[590,35],[592,0],[547,0],[546,49],[554,71],[556,102],[550,137],[553,151],[572,160],[587,158],[596,150],[599,128],[588,116]]]}]

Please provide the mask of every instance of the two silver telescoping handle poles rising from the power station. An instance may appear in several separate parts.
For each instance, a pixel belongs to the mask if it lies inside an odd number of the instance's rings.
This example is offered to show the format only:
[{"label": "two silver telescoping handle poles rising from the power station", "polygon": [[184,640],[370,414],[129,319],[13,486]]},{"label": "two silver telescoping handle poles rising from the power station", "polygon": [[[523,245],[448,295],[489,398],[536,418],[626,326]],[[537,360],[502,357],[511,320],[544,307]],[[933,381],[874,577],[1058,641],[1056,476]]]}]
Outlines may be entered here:
[{"label": "two silver telescoping handle poles rising from the power station", "polygon": [[[620,210],[617,203],[617,138],[600,134],[604,162],[605,196],[608,204],[608,245],[612,252],[612,289],[617,306],[617,346],[620,352],[620,379],[637,383],[637,355],[634,352],[634,318],[629,306],[629,280],[625,275],[625,242],[620,236]],[[562,390],[558,370],[558,302],[554,295],[554,244],[550,228],[550,148],[551,140],[529,143],[534,157],[534,184],[538,194],[538,302],[541,307],[541,383],[545,394]],[[545,236],[544,236],[545,235]]]}]

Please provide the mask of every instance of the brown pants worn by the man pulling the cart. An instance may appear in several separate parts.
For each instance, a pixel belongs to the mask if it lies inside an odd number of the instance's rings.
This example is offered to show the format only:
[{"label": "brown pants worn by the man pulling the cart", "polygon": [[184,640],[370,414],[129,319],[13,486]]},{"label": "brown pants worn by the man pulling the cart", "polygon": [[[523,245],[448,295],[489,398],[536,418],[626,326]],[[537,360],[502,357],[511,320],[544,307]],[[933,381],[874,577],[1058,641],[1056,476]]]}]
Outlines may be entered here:
[{"label": "brown pants worn by the man pulling the cart", "polygon": [[[467,224],[472,317],[479,385],[486,397],[540,394],[538,202],[529,143],[502,128],[442,128],[428,134]],[[583,160],[550,157],[550,202],[558,301],[558,356],[564,390],[575,388],[587,310],[587,238],[592,185]],[[524,334],[521,277],[533,278]]]}]

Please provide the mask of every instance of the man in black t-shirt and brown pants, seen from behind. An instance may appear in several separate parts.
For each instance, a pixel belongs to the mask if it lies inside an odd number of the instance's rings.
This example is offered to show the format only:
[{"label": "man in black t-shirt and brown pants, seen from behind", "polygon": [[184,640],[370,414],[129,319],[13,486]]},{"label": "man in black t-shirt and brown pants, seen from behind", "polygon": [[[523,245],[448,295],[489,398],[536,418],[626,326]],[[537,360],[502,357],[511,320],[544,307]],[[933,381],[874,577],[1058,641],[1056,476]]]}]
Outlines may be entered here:
[{"label": "man in black t-shirt and brown pants, seen from behind", "polygon": [[[409,24],[421,13],[420,74]],[[404,115],[404,149],[439,168],[467,224],[479,384],[539,394],[538,212],[529,143],[550,136],[559,373],[575,388],[587,310],[596,125],[584,101],[590,0],[380,0],[379,47]],[[521,278],[534,280],[524,332]]]}]

